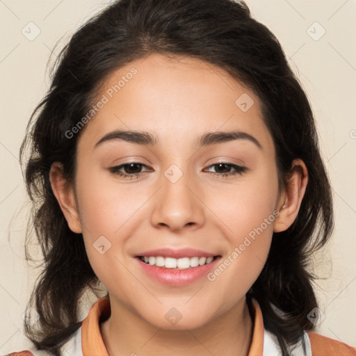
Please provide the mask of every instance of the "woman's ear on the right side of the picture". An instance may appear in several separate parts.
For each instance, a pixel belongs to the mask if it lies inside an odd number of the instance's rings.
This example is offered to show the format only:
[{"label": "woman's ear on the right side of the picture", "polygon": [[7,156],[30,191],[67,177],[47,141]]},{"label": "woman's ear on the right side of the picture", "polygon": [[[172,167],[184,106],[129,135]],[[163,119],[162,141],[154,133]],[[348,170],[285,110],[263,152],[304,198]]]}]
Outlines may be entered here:
[{"label": "woman's ear on the right side of the picture", "polygon": [[308,171],[301,159],[295,159],[286,179],[286,186],[278,200],[280,215],[275,219],[274,232],[288,229],[298,216],[300,204],[308,183]]}]

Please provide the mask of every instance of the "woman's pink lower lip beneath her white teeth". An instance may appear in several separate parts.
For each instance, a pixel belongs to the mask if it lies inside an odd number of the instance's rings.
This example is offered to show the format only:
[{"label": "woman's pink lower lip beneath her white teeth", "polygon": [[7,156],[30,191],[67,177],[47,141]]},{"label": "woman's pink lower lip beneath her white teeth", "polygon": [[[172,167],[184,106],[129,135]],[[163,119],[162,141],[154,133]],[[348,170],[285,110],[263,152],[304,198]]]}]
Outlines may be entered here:
[{"label": "woman's pink lower lip beneath her white teeth", "polygon": [[139,257],[136,257],[138,264],[140,264],[147,275],[169,286],[185,286],[186,284],[200,280],[200,278],[207,275],[210,270],[216,267],[220,258],[216,257],[210,264],[204,264],[203,266],[191,267],[186,270],[175,270],[146,264]]}]

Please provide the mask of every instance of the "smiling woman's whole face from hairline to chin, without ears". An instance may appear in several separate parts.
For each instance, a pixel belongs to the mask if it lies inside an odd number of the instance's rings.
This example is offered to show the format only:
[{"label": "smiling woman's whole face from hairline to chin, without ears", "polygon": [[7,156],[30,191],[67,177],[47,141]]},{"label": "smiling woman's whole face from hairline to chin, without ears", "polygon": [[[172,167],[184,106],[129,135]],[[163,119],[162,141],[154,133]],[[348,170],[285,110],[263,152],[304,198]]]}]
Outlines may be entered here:
[{"label": "smiling woman's whole face from hairline to chin, without ears", "polygon": [[241,305],[278,215],[275,147],[257,96],[211,64],[155,54],[114,72],[98,97],[74,191],[90,264],[112,302],[163,328],[173,307],[177,327],[192,328]]}]

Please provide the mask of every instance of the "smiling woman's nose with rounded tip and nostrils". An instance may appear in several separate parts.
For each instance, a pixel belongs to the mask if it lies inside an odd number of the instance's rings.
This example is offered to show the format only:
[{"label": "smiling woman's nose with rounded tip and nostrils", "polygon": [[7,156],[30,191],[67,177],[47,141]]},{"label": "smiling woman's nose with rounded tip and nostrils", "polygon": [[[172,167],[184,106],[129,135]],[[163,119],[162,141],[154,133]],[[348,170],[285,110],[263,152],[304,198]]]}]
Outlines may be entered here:
[{"label": "smiling woman's nose with rounded tip and nostrils", "polygon": [[166,171],[161,179],[161,188],[154,196],[152,225],[166,227],[174,232],[184,227],[201,227],[204,224],[204,203],[202,189],[197,181],[192,175],[183,171],[179,173],[174,168]]}]

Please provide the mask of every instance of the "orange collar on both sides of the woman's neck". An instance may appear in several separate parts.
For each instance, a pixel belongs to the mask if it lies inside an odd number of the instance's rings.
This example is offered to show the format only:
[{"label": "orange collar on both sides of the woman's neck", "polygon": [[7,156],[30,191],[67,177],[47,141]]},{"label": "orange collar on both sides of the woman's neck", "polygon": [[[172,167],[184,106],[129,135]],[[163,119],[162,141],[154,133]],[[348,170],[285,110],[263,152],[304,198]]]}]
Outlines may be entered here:
[{"label": "orange collar on both sides of the woman's neck", "polygon": [[[248,356],[262,356],[264,348],[264,320],[257,300],[252,299],[254,310],[254,330]],[[111,312],[110,300],[103,297],[91,307],[88,316],[81,324],[81,349],[83,356],[108,356],[102,334],[100,333],[100,317],[105,318]]]}]

